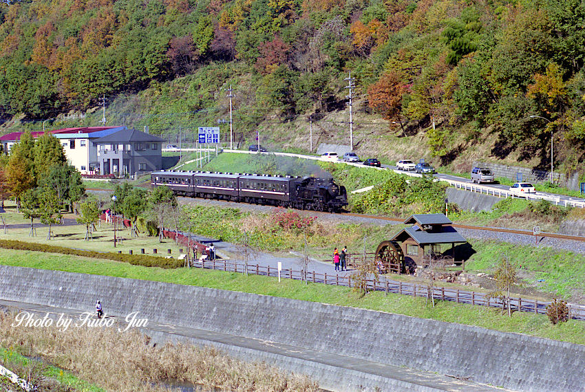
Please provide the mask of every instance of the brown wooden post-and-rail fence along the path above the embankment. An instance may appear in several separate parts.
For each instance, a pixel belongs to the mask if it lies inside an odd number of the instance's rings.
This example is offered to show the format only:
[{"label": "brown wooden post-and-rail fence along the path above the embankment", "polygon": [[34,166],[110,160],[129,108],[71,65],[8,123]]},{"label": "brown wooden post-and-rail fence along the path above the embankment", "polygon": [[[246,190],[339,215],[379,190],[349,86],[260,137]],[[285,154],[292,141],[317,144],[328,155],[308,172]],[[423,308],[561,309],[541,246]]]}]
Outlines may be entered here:
[{"label": "brown wooden post-and-rail fence along the path above the embankment", "polygon": [[[214,260],[214,261],[193,261],[192,267],[209,268],[212,270],[222,270],[230,272],[241,272],[248,274],[278,276],[278,269],[275,267],[238,263],[236,261]],[[292,270],[290,268],[281,270],[282,279],[304,280],[312,283],[325,283],[326,285],[338,285],[352,287],[355,280],[351,276],[339,276],[338,274],[321,274],[315,271]],[[401,294],[410,296],[421,296],[434,298],[440,301],[451,301],[456,303],[467,303],[471,305],[480,305],[487,307],[497,307],[507,309],[507,305],[500,298],[489,298],[484,293],[468,292],[465,290],[455,290],[445,287],[429,287],[425,284],[407,283],[401,281],[392,281],[381,276],[379,281],[374,279],[367,280],[368,290],[382,291],[386,294]],[[530,312],[535,314],[546,314],[546,307],[550,302],[538,301],[526,298],[511,298],[511,309],[513,312]],[[581,305],[568,304],[569,316],[577,320],[585,320],[585,307]]]}]

